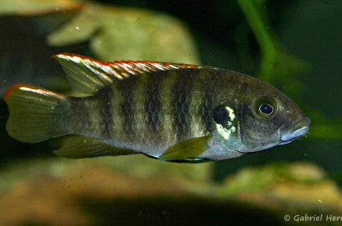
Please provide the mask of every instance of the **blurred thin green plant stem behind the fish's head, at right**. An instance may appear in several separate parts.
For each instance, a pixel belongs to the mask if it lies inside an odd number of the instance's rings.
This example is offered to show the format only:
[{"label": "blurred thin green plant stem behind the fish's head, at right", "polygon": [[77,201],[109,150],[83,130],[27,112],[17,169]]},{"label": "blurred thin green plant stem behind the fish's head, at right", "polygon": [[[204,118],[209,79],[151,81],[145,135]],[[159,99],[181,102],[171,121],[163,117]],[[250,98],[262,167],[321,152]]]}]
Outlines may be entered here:
[{"label": "blurred thin green plant stem behind the fish's head, at right", "polygon": [[280,82],[284,92],[301,106],[312,121],[308,137],[341,140],[342,117],[338,121],[332,121],[319,110],[308,108],[298,98],[297,95],[302,89],[302,85],[294,75],[309,70],[309,66],[303,60],[282,50],[272,32],[269,21],[267,21],[267,14],[262,7],[264,1],[237,0],[237,2],[261,49],[258,77],[271,84]]}]

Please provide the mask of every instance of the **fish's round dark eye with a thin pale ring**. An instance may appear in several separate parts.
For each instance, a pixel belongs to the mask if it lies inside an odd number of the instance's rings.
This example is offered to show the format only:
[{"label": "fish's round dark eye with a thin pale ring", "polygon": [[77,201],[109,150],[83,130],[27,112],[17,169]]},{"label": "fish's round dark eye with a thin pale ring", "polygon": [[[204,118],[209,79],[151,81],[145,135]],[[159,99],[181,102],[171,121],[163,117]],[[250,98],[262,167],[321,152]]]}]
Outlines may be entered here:
[{"label": "fish's round dark eye with a thin pale ring", "polygon": [[260,97],[254,102],[252,112],[258,118],[273,118],[272,116],[276,115],[277,112],[276,101],[270,97]]}]

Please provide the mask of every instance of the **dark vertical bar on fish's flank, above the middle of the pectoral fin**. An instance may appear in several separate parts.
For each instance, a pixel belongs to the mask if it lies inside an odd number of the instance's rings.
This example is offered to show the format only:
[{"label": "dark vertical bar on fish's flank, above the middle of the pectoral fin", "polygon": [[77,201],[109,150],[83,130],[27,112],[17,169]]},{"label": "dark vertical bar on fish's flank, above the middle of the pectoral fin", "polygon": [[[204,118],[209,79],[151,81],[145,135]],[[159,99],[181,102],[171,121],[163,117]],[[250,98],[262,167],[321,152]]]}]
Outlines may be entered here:
[{"label": "dark vertical bar on fish's flank, above the middle of the pectoral fin", "polygon": [[189,96],[192,93],[194,85],[194,77],[196,75],[185,75],[185,73],[198,73],[198,71],[179,70],[174,87],[172,88],[172,104],[174,112],[172,118],[174,120],[174,131],[176,131],[177,141],[187,139],[190,130],[190,123],[187,122],[187,114],[189,114]]}]

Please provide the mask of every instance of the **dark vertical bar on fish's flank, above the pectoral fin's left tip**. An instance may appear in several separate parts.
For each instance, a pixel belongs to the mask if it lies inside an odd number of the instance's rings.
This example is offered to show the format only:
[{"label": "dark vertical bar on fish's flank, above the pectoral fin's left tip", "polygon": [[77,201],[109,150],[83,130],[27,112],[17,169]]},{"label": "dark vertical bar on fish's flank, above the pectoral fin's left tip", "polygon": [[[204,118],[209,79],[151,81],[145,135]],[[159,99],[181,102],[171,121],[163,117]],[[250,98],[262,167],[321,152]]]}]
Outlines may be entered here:
[{"label": "dark vertical bar on fish's flank, above the pectoral fin's left tip", "polygon": [[[165,75],[165,72],[163,72],[163,74]],[[152,136],[159,136],[159,123],[161,123],[159,120],[159,114],[162,107],[160,99],[160,91],[162,88],[159,86],[163,78],[165,78],[165,76],[163,77],[159,75],[159,73],[150,75],[145,86],[146,100],[144,103],[144,108],[145,112],[147,113],[147,125]]]}]

